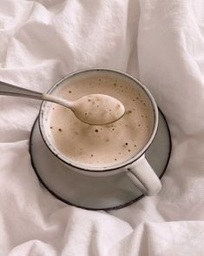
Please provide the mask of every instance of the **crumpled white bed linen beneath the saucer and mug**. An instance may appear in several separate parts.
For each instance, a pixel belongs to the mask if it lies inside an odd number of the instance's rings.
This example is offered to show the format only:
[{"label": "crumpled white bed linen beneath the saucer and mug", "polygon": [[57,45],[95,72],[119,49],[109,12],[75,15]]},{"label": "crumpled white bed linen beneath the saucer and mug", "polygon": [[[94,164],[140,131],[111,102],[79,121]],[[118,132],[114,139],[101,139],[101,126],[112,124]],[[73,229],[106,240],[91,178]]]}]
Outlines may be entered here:
[{"label": "crumpled white bed linen beneath the saucer and mug", "polygon": [[204,2],[0,0],[0,80],[47,91],[89,67],[155,96],[173,139],[161,192],[111,212],[63,204],[30,165],[40,103],[0,97],[0,255],[203,255]]}]

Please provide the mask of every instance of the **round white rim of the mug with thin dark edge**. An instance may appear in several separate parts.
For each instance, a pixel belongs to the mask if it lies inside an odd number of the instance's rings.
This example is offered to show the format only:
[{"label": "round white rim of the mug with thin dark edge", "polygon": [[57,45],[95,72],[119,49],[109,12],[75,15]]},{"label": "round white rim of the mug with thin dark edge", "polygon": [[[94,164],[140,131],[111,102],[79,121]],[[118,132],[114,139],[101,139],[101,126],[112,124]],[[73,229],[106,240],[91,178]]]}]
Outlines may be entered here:
[{"label": "round white rim of the mug with thin dark edge", "polygon": [[124,77],[128,77],[129,79],[133,80],[136,84],[139,84],[139,86],[141,87],[141,89],[143,91],[145,91],[145,93],[148,95],[148,98],[151,101],[152,107],[153,107],[153,111],[154,111],[154,127],[152,129],[151,132],[151,136],[148,138],[148,142],[146,143],[146,145],[141,149],[140,152],[138,152],[137,154],[135,154],[134,157],[129,158],[128,160],[126,160],[125,162],[122,162],[121,164],[117,164],[117,165],[111,165],[111,166],[105,166],[105,167],[89,167],[89,166],[82,166],[79,165],[77,163],[72,162],[71,160],[69,160],[69,158],[63,156],[62,153],[60,152],[56,152],[54,146],[52,146],[52,144],[49,142],[49,138],[48,136],[46,136],[46,132],[43,129],[43,111],[45,109],[45,104],[46,102],[43,101],[41,106],[40,106],[40,111],[39,111],[39,131],[41,134],[41,137],[43,138],[43,142],[45,143],[45,145],[47,145],[48,149],[50,152],[52,152],[56,158],[58,158],[59,160],[63,161],[64,164],[69,165],[71,167],[77,168],[82,172],[92,172],[92,173],[102,173],[102,172],[113,172],[119,169],[122,169],[128,165],[133,164],[136,160],[138,160],[139,158],[141,158],[141,156],[143,156],[145,154],[145,152],[147,152],[148,147],[152,144],[156,132],[158,130],[158,123],[159,123],[159,112],[158,112],[158,107],[157,104],[155,103],[155,98],[152,96],[151,92],[148,90],[148,88],[141,83],[140,80],[138,80],[137,78],[129,75],[126,72],[123,71],[118,71],[118,70],[113,70],[113,69],[106,69],[106,68],[90,68],[90,69],[83,69],[83,70],[79,70],[79,71],[74,71],[69,73],[68,75],[62,77],[61,79],[59,79],[56,84],[54,84],[53,86],[51,86],[51,88],[49,88],[49,91],[47,91],[48,94],[51,94],[52,91],[55,91],[56,87],[59,86],[60,84],[63,83],[64,80],[69,79],[69,77],[74,77],[77,76],[78,74],[82,74],[82,73],[86,73],[86,72],[91,72],[91,71],[105,71],[105,72],[113,72],[113,73],[117,73],[119,75],[122,75]]}]

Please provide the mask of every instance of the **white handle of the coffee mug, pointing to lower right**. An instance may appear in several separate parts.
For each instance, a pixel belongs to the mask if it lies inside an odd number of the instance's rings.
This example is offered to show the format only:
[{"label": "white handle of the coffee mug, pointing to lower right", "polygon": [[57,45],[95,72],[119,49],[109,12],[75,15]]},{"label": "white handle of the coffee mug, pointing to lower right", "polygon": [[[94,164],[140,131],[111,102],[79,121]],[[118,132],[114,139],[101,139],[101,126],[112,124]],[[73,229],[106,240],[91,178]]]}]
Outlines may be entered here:
[{"label": "white handle of the coffee mug, pointing to lower right", "polygon": [[125,168],[128,178],[132,180],[139,190],[147,196],[153,196],[160,192],[161,181],[155,171],[148,164],[145,155],[141,156],[133,164]]}]

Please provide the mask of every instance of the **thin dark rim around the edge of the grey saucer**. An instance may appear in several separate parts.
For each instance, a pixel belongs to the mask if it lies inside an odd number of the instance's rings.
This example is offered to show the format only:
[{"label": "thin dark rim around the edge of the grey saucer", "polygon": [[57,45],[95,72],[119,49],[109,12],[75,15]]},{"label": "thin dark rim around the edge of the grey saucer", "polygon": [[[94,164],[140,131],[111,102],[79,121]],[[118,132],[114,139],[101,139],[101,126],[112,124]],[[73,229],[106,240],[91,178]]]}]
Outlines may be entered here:
[{"label": "thin dark rim around the edge of the grey saucer", "polygon": [[[159,176],[159,178],[161,179],[164,175],[164,173],[166,172],[167,170],[167,167],[168,167],[168,163],[169,163],[169,159],[170,159],[170,156],[171,156],[171,151],[172,151],[172,141],[171,141],[171,134],[170,134],[170,131],[169,131],[169,127],[168,127],[168,123],[167,123],[167,120],[164,116],[164,114],[161,112],[161,110],[159,109],[162,117],[164,118],[164,121],[167,125],[167,129],[168,129],[168,137],[169,137],[169,152],[168,152],[168,160],[167,160],[167,163],[166,165],[164,166],[164,169],[163,171],[161,172],[161,175]],[[38,118],[38,117],[37,117]],[[36,121],[37,121],[37,118],[36,118]],[[91,210],[91,211],[111,211],[111,210],[118,210],[118,209],[121,209],[123,207],[126,207],[128,205],[132,205],[133,203],[135,203],[136,201],[144,198],[145,196],[144,195],[141,195],[133,200],[130,200],[128,203],[125,203],[125,204],[122,204],[122,205],[117,205],[117,206],[113,206],[113,207],[107,207],[107,208],[89,208],[89,207],[84,207],[84,206],[80,206],[80,205],[75,205],[75,204],[72,204],[70,203],[68,200],[66,199],[63,199],[61,196],[57,195],[56,192],[53,192],[50,188],[49,188],[49,185],[46,185],[45,182],[43,181],[43,179],[41,178],[40,174],[37,172],[36,170],[36,166],[34,164],[34,160],[33,160],[33,157],[32,157],[32,153],[31,153],[31,147],[32,147],[32,142],[31,142],[31,138],[32,138],[32,134],[33,134],[33,131],[34,131],[34,128],[35,128],[35,125],[36,125],[36,121],[34,122],[34,125],[32,126],[32,129],[31,129],[31,132],[30,132],[30,145],[29,145],[29,151],[30,151],[30,161],[31,161],[31,165],[34,169],[34,172],[36,172],[36,176],[37,178],[39,179],[39,181],[43,184],[43,186],[53,195],[56,197],[56,199],[59,199],[61,200],[63,203],[65,204],[68,204],[68,205],[72,205],[72,206],[76,206],[78,208],[81,208],[81,209],[85,209],[85,210]],[[44,141],[43,141],[44,142]]]}]

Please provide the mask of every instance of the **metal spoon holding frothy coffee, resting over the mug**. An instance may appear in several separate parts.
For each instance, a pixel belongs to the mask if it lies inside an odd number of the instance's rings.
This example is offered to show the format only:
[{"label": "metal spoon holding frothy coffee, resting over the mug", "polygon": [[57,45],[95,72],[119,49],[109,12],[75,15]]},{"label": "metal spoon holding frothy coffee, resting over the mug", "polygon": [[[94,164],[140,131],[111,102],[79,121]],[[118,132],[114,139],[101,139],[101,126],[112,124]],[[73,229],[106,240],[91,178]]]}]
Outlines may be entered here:
[{"label": "metal spoon holding frothy coffee, resting over the mug", "polygon": [[89,125],[108,125],[122,118],[125,113],[125,107],[118,99],[105,94],[89,94],[76,101],[68,101],[0,81],[0,95],[35,98],[61,104],[73,111],[76,118]]}]

